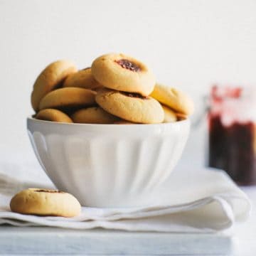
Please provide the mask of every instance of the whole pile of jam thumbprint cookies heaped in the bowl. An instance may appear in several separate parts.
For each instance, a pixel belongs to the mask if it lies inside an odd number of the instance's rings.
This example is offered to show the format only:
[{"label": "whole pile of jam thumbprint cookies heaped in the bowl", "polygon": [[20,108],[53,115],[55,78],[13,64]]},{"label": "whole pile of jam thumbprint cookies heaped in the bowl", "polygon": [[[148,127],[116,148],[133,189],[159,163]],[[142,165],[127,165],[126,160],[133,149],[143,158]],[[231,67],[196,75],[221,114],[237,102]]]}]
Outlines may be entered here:
[{"label": "whole pile of jam thumbprint cookies heaped in the bowl", "polygon": [[176,122],[193,112],[191,99],[156,83],[151,70],[124,54],[106,54],[91,68],[68,60],[48,65],[31,95],[36,119],[90,124]]}]

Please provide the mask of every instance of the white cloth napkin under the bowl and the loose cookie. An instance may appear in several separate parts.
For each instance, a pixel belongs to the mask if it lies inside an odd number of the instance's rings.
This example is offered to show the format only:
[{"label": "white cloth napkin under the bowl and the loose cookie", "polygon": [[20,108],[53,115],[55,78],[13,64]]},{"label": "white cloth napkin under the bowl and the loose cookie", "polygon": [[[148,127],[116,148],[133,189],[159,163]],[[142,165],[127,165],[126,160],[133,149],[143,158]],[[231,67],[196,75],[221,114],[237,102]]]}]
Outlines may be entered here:
[{"label": "white cloth napkin under the bowl and the loose cookie", "polygon": [[189,172],[176,169],[169,181],[154,193],[150,206],[82,207],[82,213],[76,218],[12,213],[9,208],[11,196],[18,189],[34,185],[38,187],[38,184],[0,176],[0,224],[208,233],[230,228],[236,220],[245,220],[250,213],[250,201],[245,193],[223,171],[214,169]]}]

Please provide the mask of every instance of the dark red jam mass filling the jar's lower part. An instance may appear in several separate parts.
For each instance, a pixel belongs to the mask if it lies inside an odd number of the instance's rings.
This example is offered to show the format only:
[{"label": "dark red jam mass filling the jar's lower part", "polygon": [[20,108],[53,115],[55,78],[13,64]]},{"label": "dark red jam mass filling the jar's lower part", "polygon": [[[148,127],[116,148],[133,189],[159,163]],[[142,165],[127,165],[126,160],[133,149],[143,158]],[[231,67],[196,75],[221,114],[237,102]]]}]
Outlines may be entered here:
[{"label": "dark red jam mass filling the jar's lower part", "polygon": [[219,116],[209,122],[209,166],[225,170],[240,185],[256,184],[255,124],[225,127]]}]

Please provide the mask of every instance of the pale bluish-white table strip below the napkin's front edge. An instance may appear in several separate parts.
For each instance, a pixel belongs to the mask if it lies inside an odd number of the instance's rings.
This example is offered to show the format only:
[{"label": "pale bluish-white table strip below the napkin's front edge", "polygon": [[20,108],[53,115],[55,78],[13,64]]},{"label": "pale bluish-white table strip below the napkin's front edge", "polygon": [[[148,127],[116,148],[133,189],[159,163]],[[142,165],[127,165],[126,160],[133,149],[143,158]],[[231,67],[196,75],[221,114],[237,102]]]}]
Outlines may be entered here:
[{"label": "pale bluish-white table strip below the napkin's front edge", "polygon": [[0,253],[31,255],[230,255],[228,235],[134,233],[112,230],[0,230]]}]

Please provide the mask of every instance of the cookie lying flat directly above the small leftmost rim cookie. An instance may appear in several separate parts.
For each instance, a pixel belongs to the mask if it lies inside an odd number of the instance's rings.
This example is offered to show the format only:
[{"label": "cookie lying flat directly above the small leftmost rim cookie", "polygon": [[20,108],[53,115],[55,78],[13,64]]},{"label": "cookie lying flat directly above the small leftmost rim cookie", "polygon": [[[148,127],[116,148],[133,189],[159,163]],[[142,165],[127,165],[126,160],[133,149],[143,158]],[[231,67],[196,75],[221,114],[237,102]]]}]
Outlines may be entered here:
[{"label": "cookie lying flat directly above the small leftmost rim cookie", "polygon": [[49,92],[40,102],[39,110],[76,108],[95,104],[96,92],[78,87],[65,87]]}]

